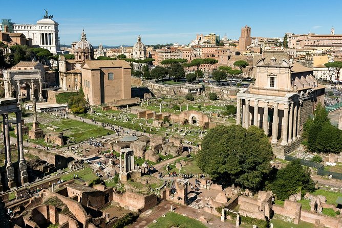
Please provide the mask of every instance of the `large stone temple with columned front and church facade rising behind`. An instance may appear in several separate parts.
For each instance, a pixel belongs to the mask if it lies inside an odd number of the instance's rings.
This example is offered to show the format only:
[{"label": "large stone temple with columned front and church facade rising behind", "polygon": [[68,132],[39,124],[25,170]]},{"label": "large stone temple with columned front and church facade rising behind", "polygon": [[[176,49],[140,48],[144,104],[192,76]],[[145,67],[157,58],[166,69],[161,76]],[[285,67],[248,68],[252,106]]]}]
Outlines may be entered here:
[{"label": "large stone temple with columned front and church facade rising behind", "polygon": [[324,103],[325,87],[311,74],[312,69],[286,59],[260,59],[255,83],[237,95],[237,124],[262,128],[276,156],[293,151],[316,104]]}]

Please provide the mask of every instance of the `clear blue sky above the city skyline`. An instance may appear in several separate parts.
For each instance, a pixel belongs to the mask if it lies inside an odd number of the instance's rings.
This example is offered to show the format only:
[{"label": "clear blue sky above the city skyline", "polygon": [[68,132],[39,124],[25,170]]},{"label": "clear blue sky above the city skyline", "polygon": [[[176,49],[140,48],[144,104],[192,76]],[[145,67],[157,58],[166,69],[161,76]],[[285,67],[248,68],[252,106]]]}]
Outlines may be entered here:
[{"label": "clear blue sky above the city skyline", "polygon": [[333,10],[340,9],[342,1],[333,1],[333,7],[316,0],[12,0],[9,4],[0,19],[17,24],[35,23],[48,9],[59,23],[61,44],[78,41],[82,28],[93,45],[133,45],[139,34],[145,44],[186,44],[197,33],[238,39],[245,25],[251,27],[252,36],[329,34],[332,26],[335,34],[342,34],[340,14]]}]

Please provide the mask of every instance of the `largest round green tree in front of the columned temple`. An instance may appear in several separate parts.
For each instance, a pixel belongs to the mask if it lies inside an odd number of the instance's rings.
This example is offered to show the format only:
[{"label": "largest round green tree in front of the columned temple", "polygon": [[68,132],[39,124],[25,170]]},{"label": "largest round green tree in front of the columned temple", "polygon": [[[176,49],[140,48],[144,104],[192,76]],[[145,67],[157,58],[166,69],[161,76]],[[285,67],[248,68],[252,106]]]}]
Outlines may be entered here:
[{"label": "largest round green tree in front of the columned temple", "polygon": [[264,187],[272,156],[271,144],[259,127],[220,125],[204,136],[197,165],[217,183],[258,191]]}]

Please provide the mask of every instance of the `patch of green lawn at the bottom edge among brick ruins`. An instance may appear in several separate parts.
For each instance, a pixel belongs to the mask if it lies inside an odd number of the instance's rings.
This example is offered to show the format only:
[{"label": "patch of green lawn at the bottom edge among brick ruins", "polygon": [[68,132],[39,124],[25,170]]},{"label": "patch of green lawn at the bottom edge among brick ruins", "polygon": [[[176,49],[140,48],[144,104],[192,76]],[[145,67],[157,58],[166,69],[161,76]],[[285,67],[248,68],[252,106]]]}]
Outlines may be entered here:
[{"label": "patch of green lawn at the bottom edge among brick ruins", "polygon": [[175,212],[169,212],[165,217],[159,217],[156,223],[150,223],[149,228],[169,228],[169,227],[184,227],[184,228],[206,228],[202,222],[191,219]]}]

